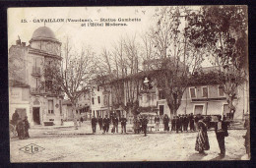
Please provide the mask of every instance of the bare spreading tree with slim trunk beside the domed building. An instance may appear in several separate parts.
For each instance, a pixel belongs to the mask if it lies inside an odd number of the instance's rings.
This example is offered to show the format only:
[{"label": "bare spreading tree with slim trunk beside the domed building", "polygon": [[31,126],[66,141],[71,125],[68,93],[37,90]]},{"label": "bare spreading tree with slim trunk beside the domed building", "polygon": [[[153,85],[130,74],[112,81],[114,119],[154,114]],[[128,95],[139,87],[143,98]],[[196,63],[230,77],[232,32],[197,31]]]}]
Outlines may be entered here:
[{"label": "bare spreading tree with slim trunk beside the domed building", "polygon": [[77,129],[76,103],[83,92],[90,87],[94,76],[94,55],[91,48],[74,51],[67,38],[63,48],[63,59],[45,61],[43,75],[52,81],[53,90],[64,91],[70,99]]}]

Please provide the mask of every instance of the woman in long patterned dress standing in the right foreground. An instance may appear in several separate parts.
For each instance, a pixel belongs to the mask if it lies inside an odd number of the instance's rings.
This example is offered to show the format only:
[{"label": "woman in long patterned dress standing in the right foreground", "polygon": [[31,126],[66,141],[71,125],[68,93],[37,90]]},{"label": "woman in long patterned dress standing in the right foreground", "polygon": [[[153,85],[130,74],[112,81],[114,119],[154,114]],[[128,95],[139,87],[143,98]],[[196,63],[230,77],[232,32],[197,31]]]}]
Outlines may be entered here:
[{"label": "woman in long patterned dress standing in the right foreground", "polygon": [[198,121],[198,135],[196,139],[196,151],[199,153],[205,153],[204,150],[210,149],[210,144],[207,136],[207,125],[204,122],[203,118]]}]

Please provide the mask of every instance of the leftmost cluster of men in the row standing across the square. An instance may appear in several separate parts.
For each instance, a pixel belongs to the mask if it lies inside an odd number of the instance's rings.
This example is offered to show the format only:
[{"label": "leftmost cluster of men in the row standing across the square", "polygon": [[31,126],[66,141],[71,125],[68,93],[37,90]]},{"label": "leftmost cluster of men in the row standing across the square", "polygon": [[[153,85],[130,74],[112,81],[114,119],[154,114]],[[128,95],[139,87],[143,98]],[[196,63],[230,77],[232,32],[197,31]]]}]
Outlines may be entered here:
[{"label": "leftmost cluster of men in the row standing across the square", "polygon": [[[109,126],[112,123],[113,127],[111,129],[111,133],[118,133],[118,118],[116,115],[114,115],[112,117],[112,120],[110,120],[110,118],[108,118],[107,115],[105,115],[105,118],[101,118],[101,116],[99,116],[96,119],[96,116],[94,116],[92,118],[92,128],[93,128],[93,133],[96,133],[96,124],[98,123],[99,129],[103,131],[103,133],[108,133],[109,131]],[[122,115],[122,117],[120,118],[120,123],[121,123],[121,133],[122,134],[126,134],[126,123],[127,123],[127,119],[124,117],[124,115]]]}]

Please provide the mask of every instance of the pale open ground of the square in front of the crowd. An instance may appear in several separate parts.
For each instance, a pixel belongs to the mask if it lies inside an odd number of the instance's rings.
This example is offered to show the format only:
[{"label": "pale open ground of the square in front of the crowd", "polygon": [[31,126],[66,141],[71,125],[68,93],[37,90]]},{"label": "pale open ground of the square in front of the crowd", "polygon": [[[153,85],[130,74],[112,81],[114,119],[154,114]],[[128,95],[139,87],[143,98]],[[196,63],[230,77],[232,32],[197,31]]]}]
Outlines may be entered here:
[{"label": "pale open ground of the square in front of the crowd", "polygon": [[[128,128],[129,129],[129,128]],[[11,162],[83,162],[83,161],[183,161],[218,160],[220,149],[214,131],[208,132],[210,150],[207,155],[195,151],[197,133],[153,132],[147,137],[121,134],[93,135],[90,127],[62,129],[32,129],[31,139],[10,141]],[[83,134],[82,134],[83,133]],[[230,130],[225,139],[226,156],[223,160],[241,159],[245,130]],[[20,150],[28,144],[44,150],[29,154]]]}]

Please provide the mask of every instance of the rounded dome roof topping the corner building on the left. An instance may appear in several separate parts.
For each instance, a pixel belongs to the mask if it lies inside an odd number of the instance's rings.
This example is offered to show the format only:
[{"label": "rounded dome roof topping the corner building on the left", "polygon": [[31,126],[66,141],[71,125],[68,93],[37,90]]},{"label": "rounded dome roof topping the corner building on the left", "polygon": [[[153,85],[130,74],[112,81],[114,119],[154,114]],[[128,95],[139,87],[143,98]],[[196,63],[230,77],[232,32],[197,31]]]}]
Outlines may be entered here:
[{"label": "rounded dome roof topping the corner building on the left", "polygon": [[32,40],[53,40],[58,41],[54,32],[47,27],[40,27],[33,31]]}]

